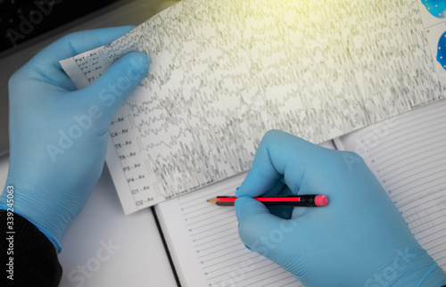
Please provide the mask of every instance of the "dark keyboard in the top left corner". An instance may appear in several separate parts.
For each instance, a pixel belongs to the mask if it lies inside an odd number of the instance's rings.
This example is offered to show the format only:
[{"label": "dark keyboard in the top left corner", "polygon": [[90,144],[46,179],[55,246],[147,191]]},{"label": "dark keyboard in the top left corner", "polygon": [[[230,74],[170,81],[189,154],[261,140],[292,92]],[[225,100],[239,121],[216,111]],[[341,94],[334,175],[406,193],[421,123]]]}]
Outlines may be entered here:
[{"label": "dark keyboard in the top left corner", "polygon": [[0,0],[0,52],[118,0]]}]

